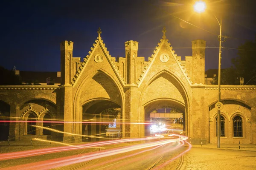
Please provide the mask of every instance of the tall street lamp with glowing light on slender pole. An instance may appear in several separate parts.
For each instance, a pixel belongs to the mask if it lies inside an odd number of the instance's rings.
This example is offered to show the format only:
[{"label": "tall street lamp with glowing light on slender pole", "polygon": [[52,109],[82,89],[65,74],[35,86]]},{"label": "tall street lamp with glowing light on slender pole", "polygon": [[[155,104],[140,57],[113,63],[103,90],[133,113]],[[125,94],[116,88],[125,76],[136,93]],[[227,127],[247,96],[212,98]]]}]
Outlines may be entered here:
[{"label": "tall street lamp with glowing light on slender pole", "polygon": [[[206,3],[203,1],[197,1],[194,5],[194,10],[198,13],[204,12],[206,9]],[[217,17],[214,15],[216,20],[218,21]],[[220,26],[220,35],[219,35],[219,61],[218,61],[218,102],[221,101],[221,21],[218,21]],[[218,109],[218,116],[217,116],[217,147],[220,148],[221,145],[221,111]]]}]

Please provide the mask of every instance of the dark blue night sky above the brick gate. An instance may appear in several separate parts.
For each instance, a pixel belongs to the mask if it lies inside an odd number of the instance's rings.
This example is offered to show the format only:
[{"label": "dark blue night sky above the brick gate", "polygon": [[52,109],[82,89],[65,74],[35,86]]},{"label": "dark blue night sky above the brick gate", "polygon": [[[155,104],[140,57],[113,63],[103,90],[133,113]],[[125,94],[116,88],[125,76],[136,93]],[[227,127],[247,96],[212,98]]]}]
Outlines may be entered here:
[{"label": "dark blue night sky above the brick gate", "polygon": [[[153,54],[166,36],[178,56],[192,55],[191,41],[207,42],[206,70],[218,68],[222,16],[222,68],[231,66],[239,45],[255,40],[254,0],[208,0],[208,11],[196,14],[192,0],[6,0],[1,8],[0,65],[21,71],[60,71],[60,42],[74,42],[73,57],[84,58],[98,37],[111,56],[125,57],[124,42],[139,42],[138,56]],[[178,19],[180,18],[180,19]],[[192,25],[184,21],[192,23]],[[204,30],[203,30],[204,29]],[[206,30],[206,31],[205,31]]]}]

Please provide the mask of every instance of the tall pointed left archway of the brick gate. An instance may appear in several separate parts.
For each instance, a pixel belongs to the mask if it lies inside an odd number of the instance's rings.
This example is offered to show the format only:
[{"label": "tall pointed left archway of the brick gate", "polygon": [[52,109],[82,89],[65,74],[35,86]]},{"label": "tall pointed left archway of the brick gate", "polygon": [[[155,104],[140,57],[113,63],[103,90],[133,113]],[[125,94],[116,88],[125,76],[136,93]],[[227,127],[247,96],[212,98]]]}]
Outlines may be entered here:
[{"label": "tall pointed left archway of the brick gate", "polygon": [[[77,105],[78,103],[79,105]],[[76,133],[86,136],[100,136],[99,134],[102,132],[101,125],[104,124],[107,126],[107,122],[102,122],[103,119],[106,119],[102,116],[102,111],[111,108],[118,109],[120,112],[119,119],[122,119],[123,93],[121,91],[120,84],[106,72],[101,70],[93,72],[92,74],[89,74],[79,85],[79,88],[76,91],[74,105],[76,109],[76,121],[83,122],[82,125],[75,125]],[[91,122],[86,123],[87,121]],[[111,120],[108,119],[108,121]],[[122,126],[117,123],[116,125],[119,125],[119,133],[121,133]],[[117,129],[112,130],[114,131]],[[107,135],[108,132],[106,131],[105,136]],[[84,142],[99,140],[101,139],[93,137],[82,138],[82,141]]]}]

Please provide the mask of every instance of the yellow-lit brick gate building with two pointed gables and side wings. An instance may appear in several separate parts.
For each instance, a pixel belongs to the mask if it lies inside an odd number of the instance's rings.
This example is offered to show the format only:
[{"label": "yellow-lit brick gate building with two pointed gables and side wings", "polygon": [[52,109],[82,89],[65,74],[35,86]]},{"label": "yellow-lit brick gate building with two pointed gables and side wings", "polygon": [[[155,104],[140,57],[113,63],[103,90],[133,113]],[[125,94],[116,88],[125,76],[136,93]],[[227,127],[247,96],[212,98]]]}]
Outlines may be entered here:
[{"label": "yellow-lit brick gate building with two pointed gables and side wings", "polygon": [[[17,121],[2,122],[0,140],[81,142],[78,135],[99,131],[81,122],[100,119],[107,108],[120,108],[122,138],[144,137],[152,111],[174,108],[192,142],[216,143],[218,86],[204,85],[206,42],[192,41],[192,56],[183,61],[165,33],[148,61],[137,55],[133,40],[125,42],[125,57],[111,57],[100,30],[82,62],[73,57],[73,42],[61,42],[60,86],[0,85],[0,119]],[[221,85],[221,102],[221,143],[256,144],[256,85]],[[49,119],[65,123],[43,122]],[[47,126],[58,131],[40,128]]]}]

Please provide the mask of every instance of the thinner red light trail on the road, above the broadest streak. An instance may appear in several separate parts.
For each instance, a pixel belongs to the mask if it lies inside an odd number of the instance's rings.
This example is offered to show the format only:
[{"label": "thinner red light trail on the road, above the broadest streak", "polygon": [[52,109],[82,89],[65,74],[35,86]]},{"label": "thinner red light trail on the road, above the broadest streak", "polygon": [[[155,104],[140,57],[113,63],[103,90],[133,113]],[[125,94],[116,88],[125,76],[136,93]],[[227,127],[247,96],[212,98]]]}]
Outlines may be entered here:
[{"label": "thinner red light trail on the road, above the broadest streak", "polygon": [[[69,150],[77,150],[81,149],[81,147],[99,147],[102,145],[109,145],[109,144],[118,144],[124,142],[137,142],[137,141],[145,141],[145,140],[153,140],[159,139],[160,137],[152,136],[147,138],[134,138],[134,139],[119,139],[119,140],[111,140],[111,141],[103,141],[103,142],[93,142],[88,144],[79,144],[76,146],[69,146],[69,147],[51,147],[45,149],[36,149],[36,150],[26,150],[26,151],[19,151],[19,152],[11,152],[11,153],[1,153],[0,160],[7,160],[7,159],[17,159],[17,158],[25,158],[29,156],[38,156],[44,155],[49,153],[57,153],[62,151],[69,151]],[[65,144],[65,143],[62,143]]]}]

